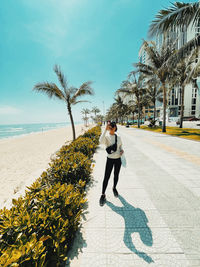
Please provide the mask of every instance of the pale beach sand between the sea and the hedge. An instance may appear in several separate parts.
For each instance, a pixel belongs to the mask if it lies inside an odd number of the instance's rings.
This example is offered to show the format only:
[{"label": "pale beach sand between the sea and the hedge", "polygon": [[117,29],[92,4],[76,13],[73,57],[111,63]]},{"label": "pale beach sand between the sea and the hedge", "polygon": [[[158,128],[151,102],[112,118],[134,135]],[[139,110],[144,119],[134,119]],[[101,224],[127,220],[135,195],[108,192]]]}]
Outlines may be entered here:
[{"label": "pale beach sand between the sea and the hedge", "polygon": [[[86,130],[75,127],[76,136]],[[0,209],[11,207],[12,199],[23,195],[47,169],[51,156],[71,140],[71,126],[0,140]]]}]

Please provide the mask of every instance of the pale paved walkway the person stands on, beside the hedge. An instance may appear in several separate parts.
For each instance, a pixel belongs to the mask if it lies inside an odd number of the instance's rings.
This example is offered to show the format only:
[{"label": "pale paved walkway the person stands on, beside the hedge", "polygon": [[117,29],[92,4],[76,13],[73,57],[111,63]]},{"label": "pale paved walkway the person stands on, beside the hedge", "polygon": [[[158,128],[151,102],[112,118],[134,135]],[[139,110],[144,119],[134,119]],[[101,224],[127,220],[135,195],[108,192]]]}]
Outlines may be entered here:
[{"label": "pale paved walkway the person stands on, beside the hedge", "polygon": [[111,177],[107,203],[99,206],[106,161],[101,146],[74,247],[78,257],[71,254],[69,266],[200,266],[200,143],[125,127],[118,134],[127,158],[120,197],[112,194]]}]

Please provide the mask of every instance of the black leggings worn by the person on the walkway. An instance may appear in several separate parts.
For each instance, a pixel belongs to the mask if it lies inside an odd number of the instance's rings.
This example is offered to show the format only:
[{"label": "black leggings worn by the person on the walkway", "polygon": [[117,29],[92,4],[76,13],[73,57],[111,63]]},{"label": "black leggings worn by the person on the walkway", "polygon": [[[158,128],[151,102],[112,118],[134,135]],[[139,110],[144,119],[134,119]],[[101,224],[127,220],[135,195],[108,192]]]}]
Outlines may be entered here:
[{"label": "black leggings worn by the person on the walkway", "polygon": [[105,194],[105,192],[106,192],[108,180],[110,179],[110,175],[111,175],[113,166],[114,166],[114,186],[113,186],[113,188],[116,188],[117,182],[119,179],[119,171],[121,168],[121,164],[122,164],[121,158],[118,158],[118,159],[107,158],[105,175],[104,175],[104,180],[103,180],[102,194]]}]

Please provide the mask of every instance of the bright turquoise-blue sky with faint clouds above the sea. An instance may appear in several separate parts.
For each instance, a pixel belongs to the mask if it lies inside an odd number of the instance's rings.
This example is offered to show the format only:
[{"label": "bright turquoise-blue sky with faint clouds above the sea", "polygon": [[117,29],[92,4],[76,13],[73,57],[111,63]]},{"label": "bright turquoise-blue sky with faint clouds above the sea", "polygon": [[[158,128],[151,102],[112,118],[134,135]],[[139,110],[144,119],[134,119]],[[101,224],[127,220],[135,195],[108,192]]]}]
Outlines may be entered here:
[{"label": "bright turquoise-blue sky with faint clouds above the sea", "polygon": [[[192,2],[192,1],[187,1]],[[32,91],[56,82],[58,64],[69,84],[92,80],[91,103],[113,103],[114,92],[138,61],[148,26],[168,0],[6,0],[0,9],[0,124],[69,121],[59,100]]]}]

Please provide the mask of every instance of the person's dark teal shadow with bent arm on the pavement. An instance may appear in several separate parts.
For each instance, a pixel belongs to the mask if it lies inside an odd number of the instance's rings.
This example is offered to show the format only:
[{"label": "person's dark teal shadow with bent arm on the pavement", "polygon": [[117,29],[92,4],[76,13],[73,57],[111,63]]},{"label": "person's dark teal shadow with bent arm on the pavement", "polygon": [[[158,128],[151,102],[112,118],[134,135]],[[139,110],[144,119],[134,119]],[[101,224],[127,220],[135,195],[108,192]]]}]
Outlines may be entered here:
[{"label": "person's dark teal shadow with bent arm on the pavement", "polygon": [[130,205],[121,195],[119,195],[119,200],[123,204],[123,207],[115,206],[109,201],[106,201],[106,204],[113,211],[115,211],[117,214],[121,215],[124,218],[124,244],[127,246],[128,249],[137,254],[140,258],[143,258],[146,262],[154,262],[152,258],[146,253],[136,249],[131,237],[132,233],[139,233],[141,241],[146,246],[153,245],[152,232],[147,225],[148,219],[146,217],[145,212],[142,209],[135,208]]}]

